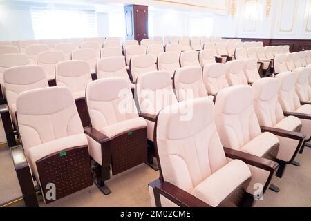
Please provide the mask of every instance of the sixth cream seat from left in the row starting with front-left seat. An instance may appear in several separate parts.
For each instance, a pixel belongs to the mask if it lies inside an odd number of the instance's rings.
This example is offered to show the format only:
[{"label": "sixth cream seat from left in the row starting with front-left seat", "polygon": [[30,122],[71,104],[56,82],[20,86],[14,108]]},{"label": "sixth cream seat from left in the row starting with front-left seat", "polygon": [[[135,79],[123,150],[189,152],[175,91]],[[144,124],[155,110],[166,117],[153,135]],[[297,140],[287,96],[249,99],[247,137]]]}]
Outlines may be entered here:
[{"label": "sixth cream seat from left in the row starting with front-left seat", "polygon": [[229,86],[248,85],[243,60],[228,61],[225,64],[225,73]]}]

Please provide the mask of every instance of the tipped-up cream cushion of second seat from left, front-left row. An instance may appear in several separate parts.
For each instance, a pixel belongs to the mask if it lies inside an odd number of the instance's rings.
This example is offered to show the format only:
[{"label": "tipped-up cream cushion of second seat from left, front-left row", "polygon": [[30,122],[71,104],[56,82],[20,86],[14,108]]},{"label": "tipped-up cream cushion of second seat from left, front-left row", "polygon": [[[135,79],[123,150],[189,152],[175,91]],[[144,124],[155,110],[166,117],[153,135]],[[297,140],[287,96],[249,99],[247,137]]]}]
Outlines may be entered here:
[{"label": "tipped-up cream cushion of second seat from left, front-left row", "polygon": [[137,117],[133,119],[127,119],[123,122],[118,122],[116,124],[111,124],[102,128],[102,133],[109,138],[113,138],[126,131],[133,131],[138,128],[147,127],[147,123],[142,117]]}]

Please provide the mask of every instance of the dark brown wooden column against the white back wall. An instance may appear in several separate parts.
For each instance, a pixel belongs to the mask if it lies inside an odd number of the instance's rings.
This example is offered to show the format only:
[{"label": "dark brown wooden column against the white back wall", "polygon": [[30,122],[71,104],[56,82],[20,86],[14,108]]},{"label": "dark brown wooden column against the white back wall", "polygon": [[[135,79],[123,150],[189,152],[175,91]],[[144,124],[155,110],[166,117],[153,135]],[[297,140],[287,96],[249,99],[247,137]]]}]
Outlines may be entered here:
[{"label": "dark brown wooden column against the white back wall", "polygon": [[148,38],[148,6],[124,6],[126,39]]}]

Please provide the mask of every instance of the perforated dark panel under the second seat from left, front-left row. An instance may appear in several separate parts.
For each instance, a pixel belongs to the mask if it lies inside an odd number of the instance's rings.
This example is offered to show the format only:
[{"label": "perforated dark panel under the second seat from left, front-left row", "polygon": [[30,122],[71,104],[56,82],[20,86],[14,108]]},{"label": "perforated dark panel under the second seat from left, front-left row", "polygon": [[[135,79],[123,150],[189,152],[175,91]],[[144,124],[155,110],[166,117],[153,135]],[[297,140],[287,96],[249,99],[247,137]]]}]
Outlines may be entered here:
[{"label": "perforated dark panel under the second seat from left, front-left row", "polygon": [[131,169],[147,160],[147,128],[129,131],[111,140],[113,175]]}]

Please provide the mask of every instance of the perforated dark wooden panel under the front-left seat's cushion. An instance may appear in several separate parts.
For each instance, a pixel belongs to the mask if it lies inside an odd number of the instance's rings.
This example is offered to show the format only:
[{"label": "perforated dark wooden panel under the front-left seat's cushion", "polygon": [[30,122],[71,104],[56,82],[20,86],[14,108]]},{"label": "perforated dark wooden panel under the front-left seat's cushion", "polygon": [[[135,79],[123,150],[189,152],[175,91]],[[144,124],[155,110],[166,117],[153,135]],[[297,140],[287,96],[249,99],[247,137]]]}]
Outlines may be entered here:
[{"label": "perforated dark wooden panel under the front-left seat's cushion", "polygon": [[[78,146],[37,160],[37,171],[46,203],[64,198],[93,184],[88,146]],[[46,198],[47,184],[55,184],[55,200]],[[49,194],[50,195],[50,194]]]}]

